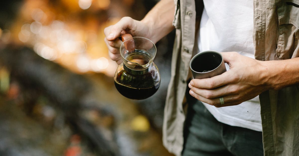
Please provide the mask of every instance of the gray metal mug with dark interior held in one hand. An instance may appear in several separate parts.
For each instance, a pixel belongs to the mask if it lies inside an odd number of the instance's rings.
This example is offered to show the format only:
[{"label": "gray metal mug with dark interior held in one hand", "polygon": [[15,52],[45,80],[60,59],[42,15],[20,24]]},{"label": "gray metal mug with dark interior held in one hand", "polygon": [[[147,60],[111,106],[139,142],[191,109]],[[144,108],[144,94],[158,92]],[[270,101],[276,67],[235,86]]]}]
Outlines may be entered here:
[{"label": "gray metal mug with dark interior held in one hand", "polygon": [[217,51],[204,51],[196,54],[190,61],[194,79],[205,79],[226,71],[222,55]]}]

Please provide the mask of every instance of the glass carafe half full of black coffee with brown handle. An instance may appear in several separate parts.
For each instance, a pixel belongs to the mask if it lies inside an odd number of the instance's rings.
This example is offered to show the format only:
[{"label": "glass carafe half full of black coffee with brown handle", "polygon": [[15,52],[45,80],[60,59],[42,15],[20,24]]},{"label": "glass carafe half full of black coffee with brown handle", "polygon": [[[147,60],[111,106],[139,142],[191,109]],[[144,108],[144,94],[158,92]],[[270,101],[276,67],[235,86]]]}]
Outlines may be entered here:
[{"label": "glass carafe half full of black coffee with brown handle", "polygon": [[157,48],[144,37],[125,34],[122,40],[120,55],[123,62],[115,72],[115,87],[129,99],[146,99],[155,94],[160,86],[159,70],[153,62]]}]

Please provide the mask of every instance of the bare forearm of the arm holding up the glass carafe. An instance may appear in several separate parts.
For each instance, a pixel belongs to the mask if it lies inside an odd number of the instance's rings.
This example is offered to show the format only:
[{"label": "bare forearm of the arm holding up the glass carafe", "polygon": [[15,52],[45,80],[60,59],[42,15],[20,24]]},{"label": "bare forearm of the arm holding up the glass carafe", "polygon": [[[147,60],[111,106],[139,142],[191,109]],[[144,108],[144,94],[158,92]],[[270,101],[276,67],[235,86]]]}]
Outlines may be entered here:
[{"label": "bare forearm of the arm holding up the glass carafe", "polygon": [[153,42],[158,42],[174,29],[172,25],[174,9],[173,0],[161,0],[141,20],[141,22],[149,26],[148,33]]}]

